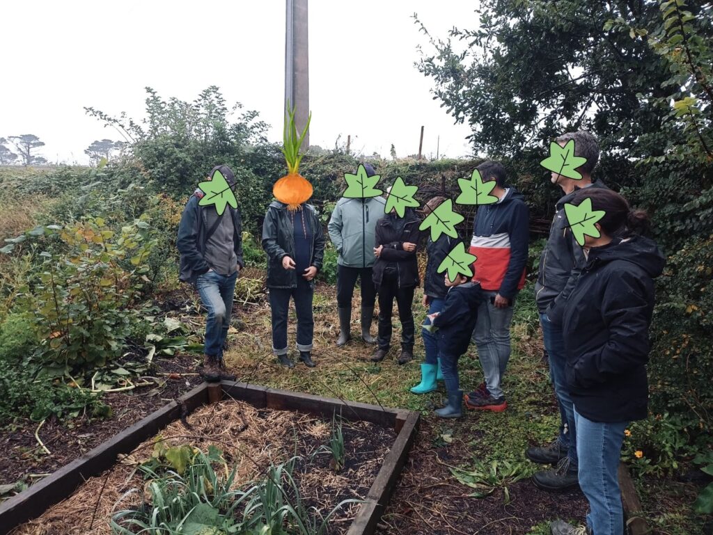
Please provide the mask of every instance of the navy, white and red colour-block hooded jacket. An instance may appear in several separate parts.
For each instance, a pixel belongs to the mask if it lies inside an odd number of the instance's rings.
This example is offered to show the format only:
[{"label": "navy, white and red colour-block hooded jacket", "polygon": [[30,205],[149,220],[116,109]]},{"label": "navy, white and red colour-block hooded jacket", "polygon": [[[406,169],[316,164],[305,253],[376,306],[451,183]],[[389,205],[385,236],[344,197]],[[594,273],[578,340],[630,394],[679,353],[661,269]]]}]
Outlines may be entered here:
[{"label": "navy, white and red colour-block hooded jacket", "polygon": [[473,281],[483,290],[515,297],[525,286],[529,238],[530,210],[514,187],[501,202],[478,207],[470,249],[476,255]]}]

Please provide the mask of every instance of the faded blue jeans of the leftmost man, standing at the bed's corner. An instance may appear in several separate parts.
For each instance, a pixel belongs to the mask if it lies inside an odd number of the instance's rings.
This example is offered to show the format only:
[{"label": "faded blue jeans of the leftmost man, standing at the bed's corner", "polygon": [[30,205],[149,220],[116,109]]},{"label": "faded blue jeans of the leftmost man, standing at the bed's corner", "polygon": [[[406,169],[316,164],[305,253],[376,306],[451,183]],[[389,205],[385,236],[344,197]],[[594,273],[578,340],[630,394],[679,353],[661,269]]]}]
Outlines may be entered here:
[{"label": "faded blue jeans of the leftmost man, standing at the bed's corner", "polygon": [[212,270],[199,275],[195,281],[200,301],[208,311],[208,319],[205,322],[204,353],[218,359],[222,358],[227,329],[230,327],[235,281],[237,281],[237,271],[226,276]]}]

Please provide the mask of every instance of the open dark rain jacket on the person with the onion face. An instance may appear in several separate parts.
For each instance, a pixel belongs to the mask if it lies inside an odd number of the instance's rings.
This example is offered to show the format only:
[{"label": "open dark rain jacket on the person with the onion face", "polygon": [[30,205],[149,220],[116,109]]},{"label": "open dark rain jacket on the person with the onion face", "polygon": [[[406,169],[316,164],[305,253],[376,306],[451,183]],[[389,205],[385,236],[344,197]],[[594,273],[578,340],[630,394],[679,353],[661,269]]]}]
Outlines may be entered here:
[{"label": "open dark rain jacket on the person with the onion face", "polygon": [[[312,234],[309,265],[322,269],[324,260],[324,231],[317,212],[311,204],[302,204],[304,222],[309,224]],[[275,201],[267,208],[262,222],[262,249],[267,253],[267,288],[297,288],[297,270],[284,269],[282,259],[295,259],[294,228],[287,212],[287,204]],[[302,274],[299,274],[302,276]]]}]

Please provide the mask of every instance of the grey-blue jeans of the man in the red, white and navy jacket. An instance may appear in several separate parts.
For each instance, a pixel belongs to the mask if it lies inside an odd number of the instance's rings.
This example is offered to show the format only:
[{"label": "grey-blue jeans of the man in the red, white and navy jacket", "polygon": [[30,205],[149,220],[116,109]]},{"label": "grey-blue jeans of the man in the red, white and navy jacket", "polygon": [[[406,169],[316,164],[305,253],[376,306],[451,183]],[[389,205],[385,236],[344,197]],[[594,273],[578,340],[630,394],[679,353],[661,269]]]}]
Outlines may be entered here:
[{"label": "grey-blue jeans of the man in the red, white and navy jacket", "polygon": [[510,360],[510,324],[515,307],[496,307],[491,303],[496,294],[496,291],[481,290],[483,301],[478,306],[478,321],[472,339],[478,346],[478,360],[483,367],[488,392],[493,398],[501,398],[501,381]]}]

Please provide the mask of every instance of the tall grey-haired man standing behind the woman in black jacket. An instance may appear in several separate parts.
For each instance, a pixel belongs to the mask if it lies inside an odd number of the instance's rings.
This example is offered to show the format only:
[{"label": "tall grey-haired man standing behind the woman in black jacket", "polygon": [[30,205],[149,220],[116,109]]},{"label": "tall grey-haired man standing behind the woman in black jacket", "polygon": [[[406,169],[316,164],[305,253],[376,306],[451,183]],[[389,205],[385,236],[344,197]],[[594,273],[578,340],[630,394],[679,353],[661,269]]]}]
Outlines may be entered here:
[{"label": "tall grey-haired man standing behind the woman in black jacket", "polygon": [[560,435],[545,447],[530,447],[525,455],[533,462],[553,464],[553,469],[537,472],[533,482],[545,490],[562,490],[578,485],[577,430],[574,406],[565,380],[565,343],[561,306],[572,291],[584,264],[582,248],[576,243],[565,217],[565,203],[571,202],[575,192],[585,187],[606,186],[592,182],[592,172],[599,160],[597,138],[578,131],[560,135],[555,142],[561,147],[574,140],[575,155],[587,161],[578,167],[581,180],[573,180],[553,172],[550,180],[562,188],[564,196],[557,202],[557,212],[550,227],[550,237],[540,256],[535,296],[540,311],[545,350],[550,361],[550,378],[555,387],[560,407]]}]

